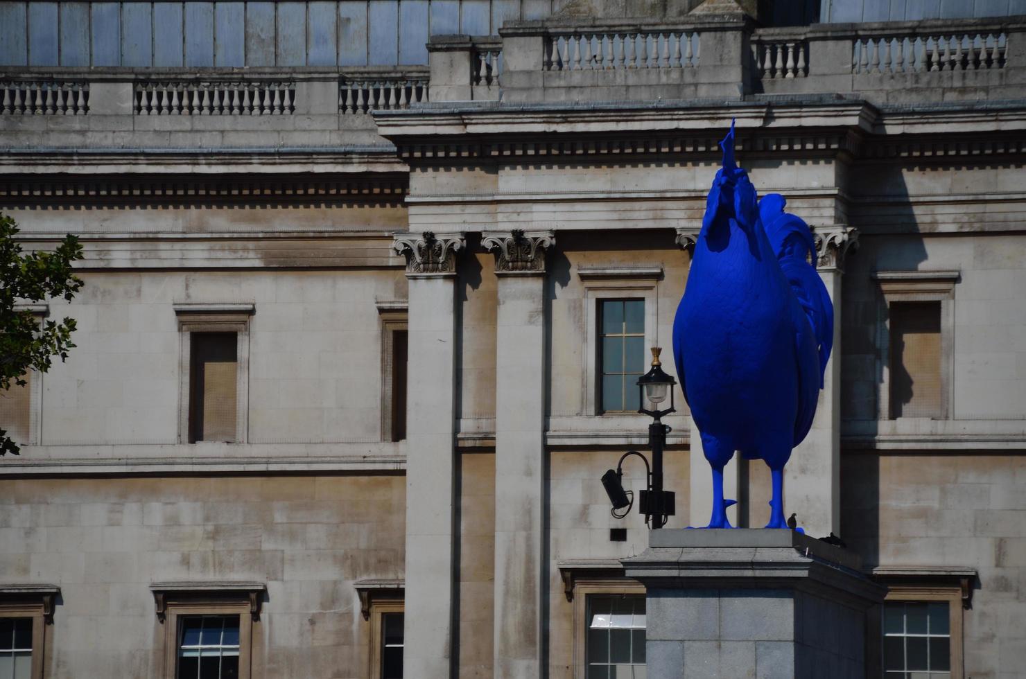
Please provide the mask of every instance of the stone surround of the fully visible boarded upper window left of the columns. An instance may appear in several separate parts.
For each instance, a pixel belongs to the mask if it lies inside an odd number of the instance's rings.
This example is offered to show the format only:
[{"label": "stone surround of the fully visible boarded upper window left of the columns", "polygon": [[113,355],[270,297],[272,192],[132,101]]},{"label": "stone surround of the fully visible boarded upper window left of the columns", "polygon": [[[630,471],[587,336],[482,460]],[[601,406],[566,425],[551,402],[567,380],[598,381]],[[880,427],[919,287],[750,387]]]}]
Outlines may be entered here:
[{"label": "stone surround of the fully visible boarded upper window left of the columns", "polygon": [[235,332],[235,441],[245,443],[249,430],[249,319],[253,304],[173,305],[179,319],[179,443],[189,443],[189,378],[191,374],[192,332]]}]

